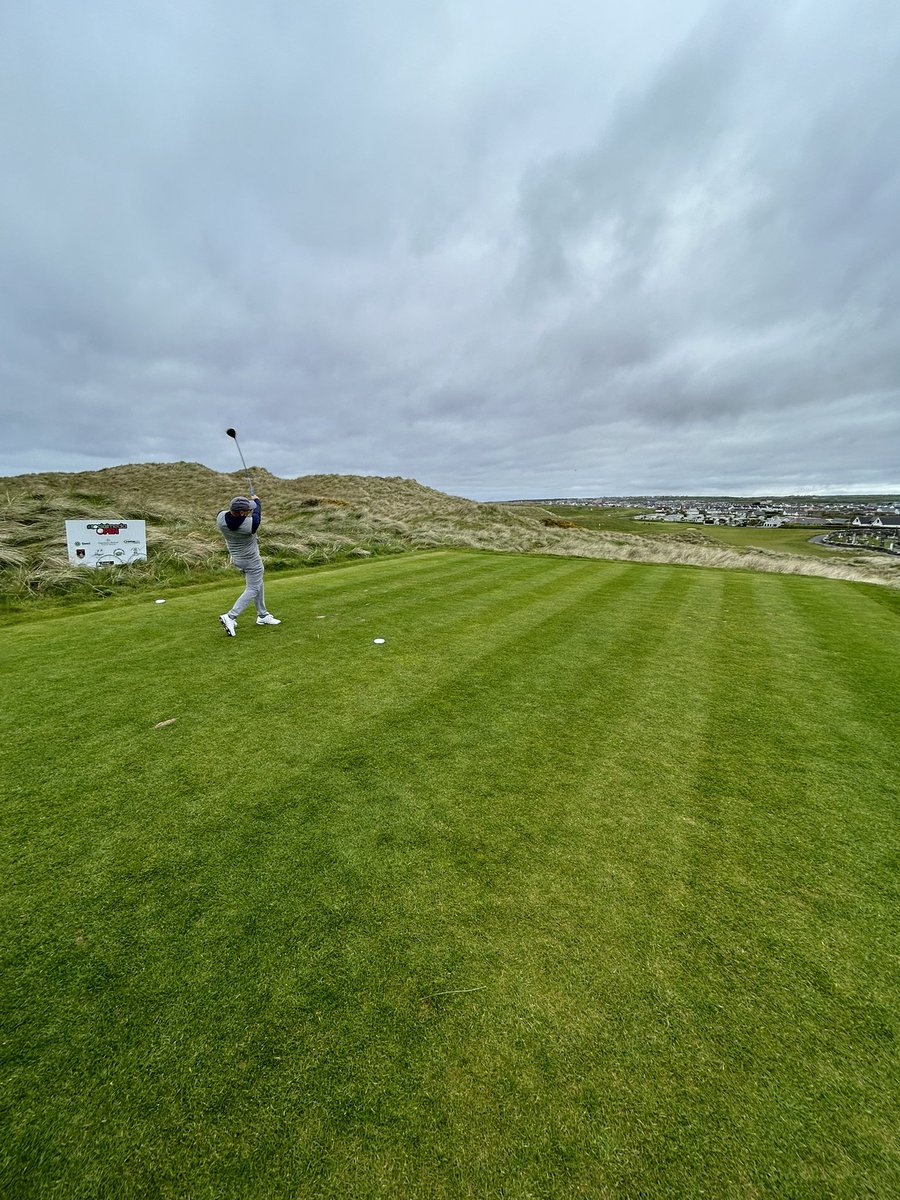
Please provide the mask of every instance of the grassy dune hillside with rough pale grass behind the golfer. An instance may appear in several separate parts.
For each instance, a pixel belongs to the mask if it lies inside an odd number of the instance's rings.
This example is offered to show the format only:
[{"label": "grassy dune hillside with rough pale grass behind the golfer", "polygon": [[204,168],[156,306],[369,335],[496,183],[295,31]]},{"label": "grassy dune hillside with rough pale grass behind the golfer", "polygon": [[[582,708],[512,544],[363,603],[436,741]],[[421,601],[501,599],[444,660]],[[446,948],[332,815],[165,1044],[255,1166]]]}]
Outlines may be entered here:
[{"label": "grassy dune hillside with rough pale grass behind the golfer", "polygon": [[[800,559],[660,536],[568,528],[539,506],[481,504],[412,479],[304,475],[251,467],[263,498],[260,544],[270,569],[318,565],[439,546],[743,568],[900,587],[900,564],[871,556]],[[154,583],[200,582],[229,570],[214,515],[246,491],[240,472],[200,463],[136,463],[103,470],[0,478],[0,593],[7,607],[43,596],[108,594]],[[143,520],[145,564],[71,566],[65,520]],[[86,577],[90,576],[90,577]]]}]

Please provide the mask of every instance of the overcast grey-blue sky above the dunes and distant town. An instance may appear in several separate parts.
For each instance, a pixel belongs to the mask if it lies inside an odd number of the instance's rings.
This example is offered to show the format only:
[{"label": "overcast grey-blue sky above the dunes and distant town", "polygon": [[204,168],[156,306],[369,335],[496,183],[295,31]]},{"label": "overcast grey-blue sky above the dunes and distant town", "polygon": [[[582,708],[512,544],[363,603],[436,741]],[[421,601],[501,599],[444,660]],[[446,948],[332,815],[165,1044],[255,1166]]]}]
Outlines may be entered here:
[{"label": "overcast grey-blue sky above the dunes and distant town", "polygon": [[898,0],[2,0],[0,474],[900,490]]}]

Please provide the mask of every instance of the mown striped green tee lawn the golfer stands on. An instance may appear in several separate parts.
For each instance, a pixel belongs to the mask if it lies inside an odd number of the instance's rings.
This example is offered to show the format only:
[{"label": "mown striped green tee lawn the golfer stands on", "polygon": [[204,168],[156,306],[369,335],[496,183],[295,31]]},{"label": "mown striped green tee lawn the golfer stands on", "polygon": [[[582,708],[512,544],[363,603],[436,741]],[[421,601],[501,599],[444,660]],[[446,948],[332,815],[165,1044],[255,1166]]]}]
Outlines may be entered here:
[{"label": "mown striped green tee lawn the golfer stands on", "polygon": [[0,628],[0,1195],[900,1194],[899,593],[239,587]]}]

